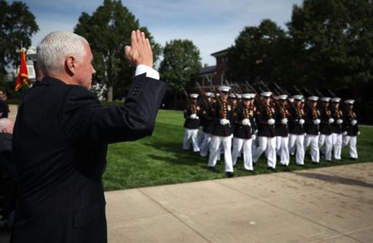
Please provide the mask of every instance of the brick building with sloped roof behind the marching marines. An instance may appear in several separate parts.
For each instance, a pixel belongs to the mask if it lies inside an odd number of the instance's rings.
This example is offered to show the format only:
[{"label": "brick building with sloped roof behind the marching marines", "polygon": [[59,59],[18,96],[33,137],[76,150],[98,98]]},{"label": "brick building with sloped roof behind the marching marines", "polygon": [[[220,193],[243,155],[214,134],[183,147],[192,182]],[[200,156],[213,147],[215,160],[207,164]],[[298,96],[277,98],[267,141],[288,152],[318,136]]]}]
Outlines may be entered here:
[{"label": "brick building with sloped roof behind the marching marines", "polygon": [[197,82],[205,89],[209,89],[211,87],[211,82],[215,87],[225,84],[226,73],[228,71],[227,54],[228,48],[211,54],[211,56],[216,58],[216,65],[205,65],[203,68],[201,68],[201,71],[192,78],[195,88],[198,88]]}]

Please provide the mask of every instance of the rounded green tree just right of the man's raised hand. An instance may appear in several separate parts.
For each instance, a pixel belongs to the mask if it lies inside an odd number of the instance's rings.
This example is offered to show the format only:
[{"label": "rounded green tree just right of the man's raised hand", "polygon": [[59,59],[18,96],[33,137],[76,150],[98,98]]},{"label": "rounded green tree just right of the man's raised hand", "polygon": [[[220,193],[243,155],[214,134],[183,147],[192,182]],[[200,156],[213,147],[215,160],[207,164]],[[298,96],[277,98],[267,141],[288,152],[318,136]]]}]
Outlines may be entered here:
[{"label": "rounded green tree just right of the man's raised hand", "polygon": [[197,74],[200,69],[200,51],[192,41],[166,42],[159,72],[161,79],[167,82],[171,90],[180,90],[180,85],[185,87],[192,75]]}]

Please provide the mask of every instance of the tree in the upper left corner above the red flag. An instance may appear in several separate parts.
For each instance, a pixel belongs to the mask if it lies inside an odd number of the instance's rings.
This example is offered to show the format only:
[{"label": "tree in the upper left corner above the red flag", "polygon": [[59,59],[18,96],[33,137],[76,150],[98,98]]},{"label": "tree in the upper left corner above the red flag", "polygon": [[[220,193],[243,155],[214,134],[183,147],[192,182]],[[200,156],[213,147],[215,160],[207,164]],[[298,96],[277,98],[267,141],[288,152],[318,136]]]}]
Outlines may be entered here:
[{"label": "tree in the upper left corner above the red flag", "polygon": [[0,26],[0,76],[4,77],[7,66],[19,65],[17,50],[31,45],[31,36],[39,27],[25,3],[15,1],[8,4],[4,0],[0,0]]}]

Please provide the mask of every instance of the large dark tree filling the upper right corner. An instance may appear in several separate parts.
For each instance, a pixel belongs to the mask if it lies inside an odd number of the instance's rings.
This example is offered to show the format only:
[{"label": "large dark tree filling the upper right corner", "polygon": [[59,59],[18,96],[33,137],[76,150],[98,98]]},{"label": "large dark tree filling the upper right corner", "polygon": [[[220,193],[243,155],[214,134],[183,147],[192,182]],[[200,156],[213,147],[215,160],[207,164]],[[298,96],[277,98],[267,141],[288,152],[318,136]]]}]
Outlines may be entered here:
[{"label": "large dark tree filling the upper right corner", "polygon": [[304,0],[295,5],[289,34],[300,81],[352,88],[373,78],[371,0]]}]

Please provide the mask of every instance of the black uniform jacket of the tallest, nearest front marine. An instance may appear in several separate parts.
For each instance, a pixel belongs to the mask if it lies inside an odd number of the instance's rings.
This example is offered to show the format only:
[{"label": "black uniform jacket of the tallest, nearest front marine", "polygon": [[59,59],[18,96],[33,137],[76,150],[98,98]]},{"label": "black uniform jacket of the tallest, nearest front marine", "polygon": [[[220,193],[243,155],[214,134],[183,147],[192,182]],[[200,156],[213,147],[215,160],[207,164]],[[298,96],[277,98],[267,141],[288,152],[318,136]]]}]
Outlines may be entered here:
[{"label": "black uniform jacket of the tallest, nearest front marine", "polygon": [[[213,135],[221,136],[221,137],[228,137],[232,135],[232,115],[233,110],[231,104],[229,102],[222,101],[222,107],[218,102],[214,105],[214,128],[213,128]],[[228,119],[230,121],[229,124],[222,125],[220,124],[220,119]]]}]

